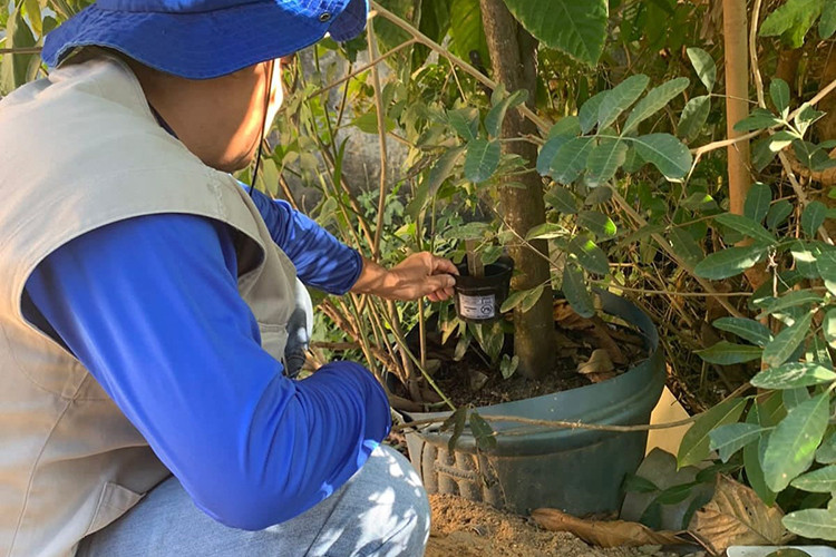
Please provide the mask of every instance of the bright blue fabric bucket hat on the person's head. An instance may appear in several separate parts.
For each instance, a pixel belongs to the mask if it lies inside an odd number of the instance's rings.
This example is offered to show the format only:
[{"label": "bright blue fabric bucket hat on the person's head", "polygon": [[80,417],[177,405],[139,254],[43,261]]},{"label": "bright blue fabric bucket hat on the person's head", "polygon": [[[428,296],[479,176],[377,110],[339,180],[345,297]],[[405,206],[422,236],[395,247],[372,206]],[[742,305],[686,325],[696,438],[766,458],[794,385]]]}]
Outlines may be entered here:
[{"label": "bright blue fabric bucket hat on the person's head", "polygon": [[368,0],[98,0],[47,35],[57,67],[74,49],[108,47],[152,68],[210,79],[288,56],[325,33],[366,27]]}]

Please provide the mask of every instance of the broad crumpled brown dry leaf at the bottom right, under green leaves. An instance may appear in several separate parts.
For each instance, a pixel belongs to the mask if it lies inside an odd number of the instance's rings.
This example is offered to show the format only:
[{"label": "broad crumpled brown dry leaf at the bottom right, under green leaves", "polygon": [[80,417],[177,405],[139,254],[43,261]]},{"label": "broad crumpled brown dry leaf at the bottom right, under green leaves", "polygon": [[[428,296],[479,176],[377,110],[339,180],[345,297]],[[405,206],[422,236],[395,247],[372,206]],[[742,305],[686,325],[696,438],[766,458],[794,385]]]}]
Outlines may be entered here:
[{"label": "broad crumpled brown dry leaf at the bottom right, under green leaves", "polygon": [[717,477],[715,497],[694,514],[688,530],[713,554],[729,546],[772,546],[787,539],[784,512],[767,507],[750,488],[727,476]]}]

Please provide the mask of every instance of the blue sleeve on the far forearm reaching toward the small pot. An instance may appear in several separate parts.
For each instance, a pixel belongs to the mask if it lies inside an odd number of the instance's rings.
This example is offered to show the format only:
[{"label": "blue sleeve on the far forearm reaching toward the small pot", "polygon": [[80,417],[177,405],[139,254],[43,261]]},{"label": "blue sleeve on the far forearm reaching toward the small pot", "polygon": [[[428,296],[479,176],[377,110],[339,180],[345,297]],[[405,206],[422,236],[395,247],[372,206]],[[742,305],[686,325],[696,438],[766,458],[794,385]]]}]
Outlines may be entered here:
[{"label": "blue sleeve on the far forearm reaching toward the small pot", "polygon": [[[249,186],[246,186],[249,188]],[[362,272],[360,254],[337,240],[313,219],[281,199],[257,189],[252,199],[270,229],[273,242],[297,266],[299,278],[331,294],[344,294]]]}]

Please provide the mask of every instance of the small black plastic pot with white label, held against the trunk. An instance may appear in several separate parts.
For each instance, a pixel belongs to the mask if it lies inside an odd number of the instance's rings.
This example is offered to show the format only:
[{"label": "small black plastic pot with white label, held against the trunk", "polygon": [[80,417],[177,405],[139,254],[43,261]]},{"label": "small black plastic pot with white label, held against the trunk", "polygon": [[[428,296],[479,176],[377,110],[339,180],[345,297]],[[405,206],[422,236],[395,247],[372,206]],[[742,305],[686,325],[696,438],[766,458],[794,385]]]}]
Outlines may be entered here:
[{"label": "small black plastic pot with white label, held against the trunk", "polygon": [[485,265],[485,276],[470,276],[467,257],[458,265],[456,278],[456,313],[470,323],[490,323],[499,319],[499,307],[508,297],[514,260],[502,256]]}]

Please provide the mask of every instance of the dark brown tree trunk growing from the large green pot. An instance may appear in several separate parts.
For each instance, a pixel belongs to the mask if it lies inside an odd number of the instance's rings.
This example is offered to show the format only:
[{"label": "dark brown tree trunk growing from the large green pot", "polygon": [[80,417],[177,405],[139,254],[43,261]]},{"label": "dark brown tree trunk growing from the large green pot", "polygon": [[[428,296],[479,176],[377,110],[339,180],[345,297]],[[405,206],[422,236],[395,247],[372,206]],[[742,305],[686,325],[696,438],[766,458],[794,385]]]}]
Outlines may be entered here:
[{"label": "dark brown tree trunk growing from the large green pot", "polygon": [[[537,42],[525,31],[505,7],[503,0],[480,0],[482,20],[485,26],[494,80],[505,85],[508,91],[526,89],[528,104],[534,108],[536,88]],[[532,123],[516,110],[508,111],[503,123],[503,137],[519,137],[536,134]],[[508,225],[522,237],[535,225],[545,222],[543,185],[534,170],[537,148],[526,141],[503,144],[503,153],[515,154],[529,163],[531,172],[514,176],[516,184],[525,187],[500,188],[499,201]],[[539,301],[528,312],[514,310],[514,353],[519,358],[519,372],[536,378],[554,367],[555,335],[552,289],[550,287],[548,245],[545,241],[532,242],[528,246],[509,248],[515,268],[519,271],[513,280],[515,290],[527,290],[545,284]]]}]

